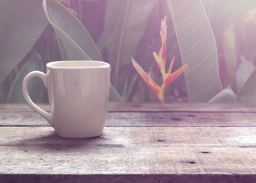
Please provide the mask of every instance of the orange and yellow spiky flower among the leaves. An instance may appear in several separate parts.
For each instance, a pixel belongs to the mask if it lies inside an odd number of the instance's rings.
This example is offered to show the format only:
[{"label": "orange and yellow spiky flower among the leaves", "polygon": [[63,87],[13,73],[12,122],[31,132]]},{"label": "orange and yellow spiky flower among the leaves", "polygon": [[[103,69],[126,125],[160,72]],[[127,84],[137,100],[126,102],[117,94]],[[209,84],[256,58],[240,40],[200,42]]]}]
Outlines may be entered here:
[{"label": "orange and yellow spiky flower among the leaves", "polygon": [[164,90],[166,89],[166,86],[172,81],[174,81],[177,77],[179,77],[187,68],[187,64],[180,67],[178,70],[176,70],[174,73],[172,72],[172,66],[174,62],[174,58],[172,59],[172,62],[170,64],[168,73],[166,73],[166,34],[167,34],[167,26],[166,26],[166,17],[161,22],[161,31],[160,36],[162,40],[162,46],[160,48],[160,51],[157,55],[156,52],[153,52],[155,61],[157,62],[157,66],[163,76],[163,84],[158,86],[150,77],[150,73],[145,73],[145,71],[140,67],[137,62],[132,59],[132,64],[134,65],[137,72],[140,74],[140,76],[143,78],[145,83],[148,85],[148,87],[154,92],[155,95],[157,95],[160,102],[164,102]]}]

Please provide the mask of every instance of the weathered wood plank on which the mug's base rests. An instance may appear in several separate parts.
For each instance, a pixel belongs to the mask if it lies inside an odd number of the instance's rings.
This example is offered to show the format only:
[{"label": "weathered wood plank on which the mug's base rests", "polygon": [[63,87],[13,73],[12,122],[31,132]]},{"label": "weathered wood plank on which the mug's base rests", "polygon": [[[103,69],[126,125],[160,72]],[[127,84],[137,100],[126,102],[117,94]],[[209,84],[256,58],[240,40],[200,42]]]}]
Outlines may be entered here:
[{"label": "weathered wood plank on which the mug's base rests", "polygon": [[80,147],[256,147],[256,127],[106,127],[101,137],[91,139],[59,138],[52,127],[0,127],[0,134],[0,147],[35,151],[48,146],[49,150],[77,147],[79,151]]}]

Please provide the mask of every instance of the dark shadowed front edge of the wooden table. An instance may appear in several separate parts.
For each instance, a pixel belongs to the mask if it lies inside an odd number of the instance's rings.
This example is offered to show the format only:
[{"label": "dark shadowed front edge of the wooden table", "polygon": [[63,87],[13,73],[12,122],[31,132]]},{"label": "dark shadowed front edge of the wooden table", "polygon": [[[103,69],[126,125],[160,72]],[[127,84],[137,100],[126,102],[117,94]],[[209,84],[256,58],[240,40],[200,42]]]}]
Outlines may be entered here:
[{"label": "dark shadowed front edge of the wooden table", "polygon": [[123,174],[37,175],[0,174],[2,183],[254,183],[256,175],[218,174]]}]

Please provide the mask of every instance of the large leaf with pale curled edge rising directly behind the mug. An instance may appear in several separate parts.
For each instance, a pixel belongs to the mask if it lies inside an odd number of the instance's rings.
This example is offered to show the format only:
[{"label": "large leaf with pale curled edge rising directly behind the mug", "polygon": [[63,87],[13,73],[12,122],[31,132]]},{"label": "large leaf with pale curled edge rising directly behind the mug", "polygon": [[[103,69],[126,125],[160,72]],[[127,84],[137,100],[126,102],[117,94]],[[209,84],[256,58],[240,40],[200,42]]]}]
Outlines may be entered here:
[{"label": "large leaf with pale curled edge rising directly behind the mug", "polygon": [[[102,61],[92,38],[80,21],[57,0],[44,0],[44,12],[58,38],[64,60]],[[110,86],[109,101],[122,101],[114,87]]]}]

